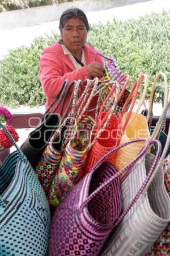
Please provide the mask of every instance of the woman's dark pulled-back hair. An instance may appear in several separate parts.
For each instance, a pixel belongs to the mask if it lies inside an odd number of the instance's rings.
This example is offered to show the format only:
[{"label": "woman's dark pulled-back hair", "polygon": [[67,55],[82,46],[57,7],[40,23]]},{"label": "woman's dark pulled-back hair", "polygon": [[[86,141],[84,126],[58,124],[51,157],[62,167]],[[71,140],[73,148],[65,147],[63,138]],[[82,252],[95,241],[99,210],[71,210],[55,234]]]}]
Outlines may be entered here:
[{"label": "woman's dark pulled-back hair", "polygon": [[87,31],[90,30],[90,26],[88,24],[88,20],[87,20],[87,16],[86,14],[78,9],[78,8],[71,8],[68,9],[66,11],[64,11],[59,19],[59,30],[61,31],[63,29],[63,27],[65,26],[65,23],[67,21],[67,19],[70,18],[78,18],[78,19],[82,19],[84,22],[84,25],[87,28]]}]

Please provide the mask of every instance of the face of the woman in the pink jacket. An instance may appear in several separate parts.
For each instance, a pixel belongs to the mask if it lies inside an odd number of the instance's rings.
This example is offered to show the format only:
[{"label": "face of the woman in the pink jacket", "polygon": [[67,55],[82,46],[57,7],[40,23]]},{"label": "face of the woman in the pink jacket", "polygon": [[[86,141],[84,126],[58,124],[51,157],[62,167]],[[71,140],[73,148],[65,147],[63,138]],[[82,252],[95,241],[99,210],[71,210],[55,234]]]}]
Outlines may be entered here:
[{"label": "face of the woman in the pink jacket", "polygon": [[71,52],[82,51],[83,45],[87,39],[87,28],[82,19],[67,19],[65,26],[61,31],[63,44]]}]

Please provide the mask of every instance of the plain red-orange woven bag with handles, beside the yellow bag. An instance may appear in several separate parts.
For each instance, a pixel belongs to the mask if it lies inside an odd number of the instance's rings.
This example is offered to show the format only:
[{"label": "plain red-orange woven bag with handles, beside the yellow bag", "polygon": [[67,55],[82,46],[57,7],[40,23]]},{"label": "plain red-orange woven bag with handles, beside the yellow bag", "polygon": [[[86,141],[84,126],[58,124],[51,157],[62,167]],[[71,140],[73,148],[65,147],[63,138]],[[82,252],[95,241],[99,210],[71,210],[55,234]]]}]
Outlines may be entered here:
[{"label": "plain red-orange woven bag with handles, beside the yellow bag", "polygon": [[[121,88],[120,84],[116,84],[116,90],[114,90],[114,88],[111,90],[111,92],[108,94],[107,98],[105,99],[103,105],[101,106],[99,115],[97,117],[97,129],[95,130],[95,134],[94,134],[94,137],[97,136],[98,139],[95,138],[95,143],[93,142],[91,151],[88,154],[85,175],[87,174],[88,171],[91,170],[91,167],[103,155],[105,155],[113,147],[116,147],[118,144],[120,144],[122,127],[121,127],[121,119],[118,118],[120,110],[117,109],[117,104],[120,101],[122,95],[124,94],[126,85],[128,83],[129,83],[129,80],[126,81],[123,88]],[[109,109],[108,112],[104,112],[103,110],[105,108],[105,104],[107,104],[109,98],[112,98],[113,100],[112,107]],[[109,118],[107,121],[109,113],[111,113],[111,118]],[[102,127],[104,126],[104,123],[106,121],[108,122],[108,124],[105,127],[105,129],[103,129]],[[97,134],[99,133],[100,129],[103,129],[103,132],[99,136]],[[114,158],[114,155],[110,155],[109,158],[106,160],[107,162],[112,163],[113,158]]]}]

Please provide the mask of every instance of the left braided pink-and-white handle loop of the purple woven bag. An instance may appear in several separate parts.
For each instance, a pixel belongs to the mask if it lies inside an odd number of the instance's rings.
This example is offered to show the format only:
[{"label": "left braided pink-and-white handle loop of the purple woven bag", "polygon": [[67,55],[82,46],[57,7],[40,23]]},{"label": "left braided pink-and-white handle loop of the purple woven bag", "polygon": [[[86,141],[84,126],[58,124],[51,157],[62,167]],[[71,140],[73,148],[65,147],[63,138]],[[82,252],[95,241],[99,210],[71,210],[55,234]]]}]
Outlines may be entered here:
[{"label": "left braided pink-and-white handle loop of the purple woven bag", "polygon": [[126,142],[124,144],[121,144],[117,147],[112,148],[111,151],[107,152],[107,154],[105,154],[104,156],[102,156],[102,158],[92,167],[91,171],[96,170],[96,168],[98,168],[100,166],[100,164],[106,159],[108,158],[109,155],[113,154],[114,152],[116,152],[117,150],[119,150],[122,147],[128,146],[129,144],[132,143],[136,143],[136,142],[146,142],[145,146],[143,146],[142,150],[139,152],[139,154],[135,157],[135,159],[129,163],[127,166],[125,166],[124,168],[122,168],[122,170],[118,171],[117,174],[113,175],[111,178],[109,178],[107,181],[105,181],[105,183],[103,183],[102,185],[100,185],[99,188],[97,188],[94,192],[91,193],[90,196],[87,197],[87,199],[84,201],[84,203],[81,205],[81,209],[83,209],[84,207],[86,207],[86,205],[91,201],[91,199],[97,195],[97,193],[99,193],[99,191],[101,191],[101,189],[103,189],[105,186],[107,186],[109,183],[111,183],[114,179],[116,179],[116,177],[120,176],[121,174],[123,174],[125,171],[128,171],[129,169],[131,170],[131,168],[134,166],[135,163],[138,162],[139,159],[142,158],[142,156],[144,156],[148,150],[149,147],[149,141],[145,138],[142,139],[133,139],[129,142]]}]

